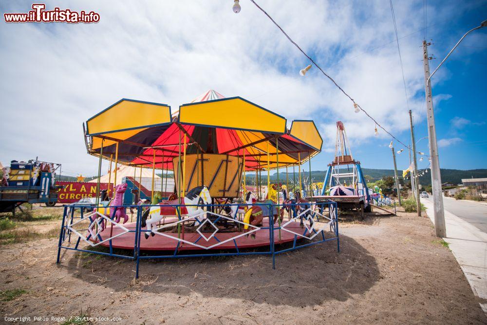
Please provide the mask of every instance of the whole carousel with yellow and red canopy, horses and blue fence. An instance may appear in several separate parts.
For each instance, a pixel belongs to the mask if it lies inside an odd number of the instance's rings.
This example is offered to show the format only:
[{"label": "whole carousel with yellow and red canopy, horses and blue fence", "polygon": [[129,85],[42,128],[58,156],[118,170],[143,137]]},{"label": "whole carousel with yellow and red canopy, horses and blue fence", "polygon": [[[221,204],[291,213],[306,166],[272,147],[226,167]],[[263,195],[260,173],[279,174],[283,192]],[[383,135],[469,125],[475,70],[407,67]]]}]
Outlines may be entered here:
[{"label": "whole carousel with yellow and red canopy, horses and blue fence", "polygon": [[[86,148],[98,157],[99,172],[102,160],[108,160],[115,166],[150,168],[166,180],[171,173],[174,188],[162,192],[173,195],[161,198],[152,184],[151,202],[123,202],[127,185],[114,184],[114,193],[100,198],[91,213],[65,207],[58,256],[62,248],[100,245],[108,248],[101,253],[136,259],[138,270],[143,258],[274,257],[331,239],[338,242],[336,206],[330,202],[327,213],[313,209],[301,181],[302,165],[321,150],[318,129],[308,120],[294,120],[289,129],[287,124],[279,114],[213,90],[175,112],[165,104],[131,99],[102,110],[83,124]],[[292,197],[288,171],[295,167],[299,176]],[[271,170],[277,170],[277,183],[271,182]],[[252,190],[245,186],[247,177],[253,180]],[[129,208],[135,211],[130,217]],[[325,220],[319,226],[318,217]],[[283,243],[291,244],[276,251],[275,245]],[[248,251],[262,247],[268,250]],[[133,254],[117,255],[114,249]]]}]

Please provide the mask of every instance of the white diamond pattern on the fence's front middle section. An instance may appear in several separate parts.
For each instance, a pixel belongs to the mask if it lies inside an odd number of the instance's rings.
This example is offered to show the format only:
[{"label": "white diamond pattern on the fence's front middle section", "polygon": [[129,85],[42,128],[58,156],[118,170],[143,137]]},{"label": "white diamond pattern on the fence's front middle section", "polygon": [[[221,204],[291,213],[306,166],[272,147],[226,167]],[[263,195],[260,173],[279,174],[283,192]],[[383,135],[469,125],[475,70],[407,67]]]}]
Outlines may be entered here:
[{"label": "white diamond pattern on the fence's front middle section", "polygon": [[[242,225],[247,225],[250,228],[250,230],[247,231],[246,233],[242,233],[240,235],[236,235],[236,236],[230,237],[230,238],[225,239],[225,240],[222,240],[222,241],[218,241],[217,240],[217,243],[216,244],[213,244],[213,245],[210,245],[210,246],[203,246],[203,245],[198,244],[197,242],[190,242],[188,240],[185,240],[185,239],[182,239],[182,238],[178,238],[176,236],[171,236],[171,235],[168,235],[166,233],[160,233],[159,232],[159,230],[163,230],[165,228],[173,227],[173,226],[175,226],[175,225],[177,225],[179,223],[182,223],[182,222],[188,222],[188,221],[192,221],[192,220],[194,220],[195,222],[198,222],[198,221],[200,221],[198,219],[198,217],[205,216],[206,214],[209,214],[209,215],[212,215],[212,216],[215,216],[215,217],[220,217],[220,218],[223,218],[223,219],[226,219],[226,220],[234,221],[234,222],[240,223]],[[209,222],[216,229],[209,236],[203,235],[204,233],[202,233],[201,232],[201,229],[200,229],[203,226],[203,224],[205,224],[206,222]],[[256,232],[256,231],[258,231],[260,229],[261,229],[260,227],[251,225],[249,223],[245,223],[245,222],[240,221],[238,219],[234,219],[234,218],[231,218],[231,217],[226,217],[226,216],[223,216],[223,215],[219,215],[217,213],[210,212],[210,211],[202,211],[202,212],[200,212],[196,216],[192,216],[192,217],[189,217],[189,218],[185,218],[184,220],[178,220],[177,222],[173,222],[173,223],[170,223],[170,224],[161,226],[161,227],[159,227],[157,229],[153,229],[151,232],[154,233],[154,234],[156,234],[156,235],[161,235],[161,236],[168,237],[170,239],[173,239],[173,240],[176,240],[176,241],[179,241],[179,242],[182,242],[182,243],[186,243],[188,245],[192,245],[192,246],[199,247],[199,248],[202,248],[202,249],[205,249],[205,250],[209,250],[209,249],[215,248],[215,247],[217,247],[219,245],[222,245],[222,244],[224,244],[226,242],[229,242],[231,240],[235,240],[235,239],[240,238],[240,237],[245,236],[245,235],[250,235],[250,234],[252,234],[252,233],[254,233],[254,232]],[[215,238],[216,239],[215,235],[218,233],[219,229],[218,229],[218,227],[216,227],[216,225],[213,222],[211,222],[211,220],[209,220],[209,219],[206,218],[203,222],[201,222],[200,226],[197,228],[196,231],[206,241],[209,241],[211,238]]]}]

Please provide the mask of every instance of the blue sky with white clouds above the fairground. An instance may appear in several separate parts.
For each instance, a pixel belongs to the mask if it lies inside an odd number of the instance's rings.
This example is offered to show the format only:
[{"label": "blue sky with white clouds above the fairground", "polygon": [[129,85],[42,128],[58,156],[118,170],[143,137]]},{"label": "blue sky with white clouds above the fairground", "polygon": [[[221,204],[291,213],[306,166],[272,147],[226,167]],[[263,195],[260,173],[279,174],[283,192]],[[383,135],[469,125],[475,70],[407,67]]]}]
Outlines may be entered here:
[{"label": "blue sky with white clouds above the fairground", "polygon": [[[362,167],[392,169],[391,140],[249,0],[46,1],[99,13],[93,24],[7,24],[1,19],[0,161],[62,163],[63,174],[96,175],[82,123],[121,98],[179,105],[213,89],[293,119],[313,119],[323,138],[313,170],[325,170],[345,124]],[[418,151],[429,153],[422,41],[431,71],[457,40],[487,19],[487,0],[393,1],[406,91],[389,0],[256,0],[371,116],[409,144],[408,110]],[[1,1],[27,12],[32,2]],[[432,78],[442,168],[487,168],[487,28],[469,34]],[[407,93],[407,96],[406,96]],[[290,125],[289,125],[290,126]],[[394,141],[395,150],[403,148]],[[398,169],[409,165],[407,151]],[[107,169],[104,163],[104,169]],[[419,162],[427,168],[428,159]]]}]

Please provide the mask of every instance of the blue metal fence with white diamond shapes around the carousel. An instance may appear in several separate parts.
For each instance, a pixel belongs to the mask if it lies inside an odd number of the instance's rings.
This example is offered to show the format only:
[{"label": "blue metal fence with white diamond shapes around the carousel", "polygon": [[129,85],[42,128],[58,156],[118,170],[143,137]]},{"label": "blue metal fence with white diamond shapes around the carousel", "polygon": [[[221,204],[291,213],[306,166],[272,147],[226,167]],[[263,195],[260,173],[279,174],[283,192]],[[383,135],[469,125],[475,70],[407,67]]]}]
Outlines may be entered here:
[{"label": "blue metal fence with white diamond shapes around the carousel", "polygon": [[[339,236],[338,236],[338,220],[337,220],[337,203],[335,202],[320,202],[320,209],[316,209],[314,204],[310,203],[300,203],[300,204],[265,204],[265,203],[256,203],[254,205],[261,206],[261,208],[267,208],[269,209],[269,216],[263,218],[265,220],[267,218],[268,224],[266,226],[263,225],[252,225],[249,224],[248,222],[244,222],[243,216],[238,216],[237,212],[238,209],[235,209],[236,212],[233,216],[230,215],[224,215],[223,212],[216,213],[215,211],[223,211],[223,208],[225,207],[231,207],[231,206],[236,206],[238,204],[208,204],[208,205],[164,205],[164,207],[172,207],[175,209],[177,214],[172,217],[176,217],[175,220],[176,222],[171,223],[170,225],[178,226],[183,225],[187,222],[194,222],[195,227],[198,226],[197,232],[199,236],[197,237],[196,240],[190,242],[185,240],[184,238],[181,238],[179,236],[178,232],[178,237],[168,235],[168,233],[165,232],[159,232],[159,230],[163,230],[164,228],[167,228],[167,226],[164,224],[162,227],[156,227],[156,229],[153,229],[151,227],[150,230],[148,229],[142,229],[142,219],[143,219],[143,214],[147,209],[150,209],[151,207],[160,207],[160,205],[139,205],[139,206],[110,206],[110,216],[105,216],[100,212],[87,212],[85,211],[87,209],[86,206],[80,206],[80,205],[68,205],[64,206],[64,213],[63,213],[63,219],[62,219],[62,225],[61,229],[59,232],[59,242],[58,242],[58,251],[57,251],[57,260],[56,263],[59,263],[61,261],[61,250],[73,250],[73,251],[78,251],[78,252],[89,252],[89,253],[94,253],[94,254],[101,254],[101,255],[106,255],[106,256],[112,256],[112,257],[119,257],[119,258],[127,258],[135,261],[136,263],[136,272],[135,272],[135,277],[138,278],[139,276],[139,266],[140,266],[140,261],[143,259],[156,259],[156,258],[181,258],[181,257],[202,257],[202,256],[231,256],[231,255],[271,255],[272,257],[272,267],[273,269],[275,268],[275,262],[276,262],[276,255],[280,253],[286,253],[290,252],[293,250],[297,250],[300,248],[308,247],[311,245],[317,245],[320,243],[324,243],[326,241],[330,240],[336,240],[337,241],[337,251],[339,252]],[[193,213],[191,216],[187,215],[181,215],[181,208],[185,207],[187,208],[188,206],[192,206],[196,208],[197,213]],[[240,205],[242,207],[242,205]],[[328,214],[325,214],[325,209],[328,207]],[[108,207],[107,207],[108,208]],[[129,229],[131,227],[125,227],[121,222],[116,222],[115,221],[115,213],[116,213],[116,208],[135,208],[136,209],[136,217],[135,217],[135,225],[132,223],[132,227],[134,226],[133,229]],[[281,208],[285,208],[289,211],[289,217],[287,220],[281,220],[278,217],[278,221],[274,223],[274,216],[273,213],[276,211],[281,211]],[[298,213],[294,213],[293,216],[291,216],[291,210],[293,211],[299,211]],[[317,211],[318,210],[318,211]],[[79,212],[79,215],[78,215]],[[321,217],[322,220],[325,221],[324,225],[321,222],[319,225],[317,224],[317,221],[314,221],[316,218],[318,220],[318,217]],[[215,226],[215,223],[217,223],[220,220],[229,220],[235,222],[235,224],[239,224],[239,230],[241,230],[242,226],[246,226],[250,231],[247,232],[242,232],[242,231],[236,231],[232,232],[235,235],[227,238],[225,240],[220,240],[218,238],[218,232],[220,229]],[[262,221],[263,221],[262,220]],[[102,228],[102,222],[105,223],[105,227],[110,227],[110,235],[106,235],[103,233]],[[296,227],[296,222],[300,222],[300,225],[302,227],[297,228]],[[87,228],[81,227],[83,223],[87,224]],[[210,223],[215,227],[216,231],[213,232],[209,237],[204,236],[201,232],[199,232],[199,228],[203,227],[205,223]],[[294,226],[294,227],[293,227]],[[79,228],[81,227],[81,228]],[[113,235],[112,230],[113,227],[118,228],[117,234]],[[319,228],[321,227],[321,228]],[[328,227],[329,227],[329,233],[328,232]],[[296,230],[299,229],[299,232]],[[121,231],[120,231],[121,230]],[[242,250],[239,248],[236,239],[244,236],[244,235],[249,235],[254,232],[258,232],[261,230],[268,230],[269,231],[269,243],[268,245],[263,245],[261,246],[259,251],[249,251],[249,250]],[[326,232],[325,232],[326,231]],[[279,246],[278,249],[276,250],[276,243],[281,242],[281,235],[283,232],[291,233],[292,234],[292,245],[290,247],[282,247],[283,245]],[[121,236],[121,235],[126,235],[126,234],[131,234],[133,233],[133,252],[128,253],[128,254],[121,254],[121,253],[114,253],[114,248],[112,241],[114,238]],[[164,252],[163,254],[141,254],[141,236],[142,234],[148,234],[150,235],[163,235],[166,237],[169,237],[173,240],[177,241],[176,247],[173,251],[162,251]],[[276,235],[277,233],[277,235]],[[75,239],[74,246],[72,245],[72,235],[75,235],[77,238]],[[315,240],[316,238],[319,238],[318,240]],[[204,246],[200,245],[199,241],[204,239],[206,242],[209,241],[209,239],[214,238],[216,240],[216,244],[210,245],[210,246]],[[289,237],[287,237],[289,239]],[[303,243],[302,241],[306,240],[307,242]],[[95,247],[98,246],[102,243],[107,243],[103,245],[105,248],[103,251],[99,250],[90,250],[86,249],[85,246],[81,248],[80,244],[81,241],[83,241],[85,244]],[[219,249],[219,246],[226,243],[233,241],[233,247],[232,249],[225,248],[226,252],[219,252],[217,251]],[[289,240],[291,242],[291,240]],[[183,244],[190,245],[194,247],[195,250],[200,250],[202,253],[183,253],[183,251],[180,249]],[[289,246],[287,244],[286,246]],[[263,247],[267,247],[263,249]],[[132,247],[130,248],[129,252],[132,250]],[[108,252],[107,252],[108,251]],[[230,251],[230,252],[228,252]]]}]

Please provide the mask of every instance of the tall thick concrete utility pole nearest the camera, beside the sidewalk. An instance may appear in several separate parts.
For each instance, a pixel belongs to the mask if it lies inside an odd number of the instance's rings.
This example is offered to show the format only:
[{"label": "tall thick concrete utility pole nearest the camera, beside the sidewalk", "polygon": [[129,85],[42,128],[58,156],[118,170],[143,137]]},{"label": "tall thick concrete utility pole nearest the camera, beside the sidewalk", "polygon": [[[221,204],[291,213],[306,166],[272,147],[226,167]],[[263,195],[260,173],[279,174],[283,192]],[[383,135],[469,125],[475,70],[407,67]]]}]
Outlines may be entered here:
[{"label": "tall thick concrete utility pole nearest the camera, beside the sidewalk", "polygon": [[443,209],[443,195],[441,193],[440,163],[438,160],[438,145],[436,143],[436,128],[434,126],[433,99],[431,97],[430,61],[428,58],[428,44],[423,41],[423,67],[426,86],[426,116],[428,119],[428,141],[431,156],[431,188],[433,192],[433,216],[436,236],[446,237],[445,211]]}]

